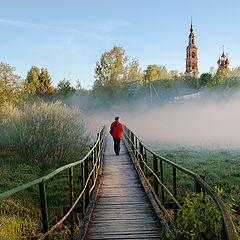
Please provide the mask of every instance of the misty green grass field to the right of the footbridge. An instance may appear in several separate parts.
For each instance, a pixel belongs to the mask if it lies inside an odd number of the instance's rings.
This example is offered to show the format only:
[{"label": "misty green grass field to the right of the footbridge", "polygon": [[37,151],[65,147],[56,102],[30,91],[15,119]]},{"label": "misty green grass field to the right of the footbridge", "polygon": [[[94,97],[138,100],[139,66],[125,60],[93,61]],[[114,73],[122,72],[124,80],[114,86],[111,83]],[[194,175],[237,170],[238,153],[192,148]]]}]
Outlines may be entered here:
[{"label": "misty green grass field to the right of the footbridge", "polygon": [[[191,146],[170,145],[162,143],[147,143],[159,153],[201,176],[211,187],[223,188],[226,202],[235,203],[235,210],[240,214],[240,150],[208,149]],[[164,165],[167,185],[171,188],[172,170]],[[186,192],[192,192],[191,178],[177,171],[178,195],[183,197]]]}]

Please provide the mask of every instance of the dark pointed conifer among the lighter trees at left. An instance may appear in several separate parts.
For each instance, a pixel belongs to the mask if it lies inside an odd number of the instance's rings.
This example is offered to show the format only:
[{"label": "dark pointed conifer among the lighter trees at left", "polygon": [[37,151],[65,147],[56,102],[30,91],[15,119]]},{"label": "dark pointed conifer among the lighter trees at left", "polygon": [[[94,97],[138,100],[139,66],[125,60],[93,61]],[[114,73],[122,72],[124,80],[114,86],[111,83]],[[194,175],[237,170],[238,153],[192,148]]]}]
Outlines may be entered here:
[{"label": "dark pointed conifer among the lighter trees at left", "polygon": [[38,77],[38,88],[36,93],[38,95],[48,95],[53,93],[52,79],[47,71],[47,69],[42,68]]}]

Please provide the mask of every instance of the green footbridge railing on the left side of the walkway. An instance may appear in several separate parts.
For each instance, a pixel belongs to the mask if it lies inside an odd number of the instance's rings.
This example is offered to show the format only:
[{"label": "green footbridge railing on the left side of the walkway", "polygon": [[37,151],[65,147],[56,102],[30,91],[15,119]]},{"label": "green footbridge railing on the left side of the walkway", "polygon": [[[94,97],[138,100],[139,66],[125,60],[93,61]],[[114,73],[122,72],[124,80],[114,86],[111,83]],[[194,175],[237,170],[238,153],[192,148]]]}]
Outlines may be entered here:
[{"label": "green footbridge railing on the left side of the walkway", "polygon": [[[18,194],[19,192],[30,189],[36,185],[39,185],[39,199],[41,205],[41,213],[42,213],[42,226],[44,234],[38,238],[41,239],[49,239],[50,234],[60,226],[68,217],[70,217],[71,222],[71,239],[74,239],[74,208],[77,203],[81,200],[81,208],[80,208],[80,216],[81,220],[86,212],[89,199],[91,193],[96,185],[97,177],[100,169],[100,161],[101,161],[101,153],[103,150],[103,140],[105,135],[105,127],[97,134],[97,140],[94,146],[90,149],[90,151],[85,155],[85,157],[77,162],[73,162],[62,166],[55,171],[49,173],[46,176],[23,184],[19,187],[13,188],[6,192],[0,193],[0,200],[9,198],[12,195]],[[73,168],[80,167],[80,175],[78,178],[80,179],[80,188],[81,192],[79,196],[74,201],[74,191],[73,191]],[[58,175],[63,171],[68,170],[69,175],[69,207],[67,208],[67,213],[62,217],[60,221],[58,221],[54,226],[49,229],[49,220],[48,220],[48,207],[47,207],[47,191],[46,191],[46,183],[52,179],[54,176]],[[90,179],[91,184],[90,184]],[[61,196],[59,196],[60,198]]]}]

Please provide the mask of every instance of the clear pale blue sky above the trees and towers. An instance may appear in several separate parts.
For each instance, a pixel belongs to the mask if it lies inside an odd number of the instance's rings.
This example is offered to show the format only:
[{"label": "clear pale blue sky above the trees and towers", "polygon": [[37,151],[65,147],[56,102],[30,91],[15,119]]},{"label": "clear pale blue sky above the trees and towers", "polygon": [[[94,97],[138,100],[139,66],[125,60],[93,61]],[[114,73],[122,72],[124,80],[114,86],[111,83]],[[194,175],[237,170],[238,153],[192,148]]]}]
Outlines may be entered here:
[{"label": "clear pale blue sky above the trees and towers", "polygon": [[230,68],[240,66],[239,0],[0,0],[0,61],[25,78],[46,67],[56,86],[63,78],[90,88],[104,51],[122,46],[140,67],[185,71],[191,16],[199,71],[217,67],[225,45]]}]

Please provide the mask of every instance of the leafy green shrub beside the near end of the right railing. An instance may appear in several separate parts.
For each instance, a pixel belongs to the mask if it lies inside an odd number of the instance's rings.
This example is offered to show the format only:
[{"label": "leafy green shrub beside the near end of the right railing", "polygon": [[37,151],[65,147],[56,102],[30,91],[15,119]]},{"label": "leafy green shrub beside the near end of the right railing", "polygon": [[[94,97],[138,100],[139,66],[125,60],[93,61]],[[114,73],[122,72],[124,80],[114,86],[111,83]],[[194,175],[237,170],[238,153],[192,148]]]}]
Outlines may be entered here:
[{"label": "leafy green shrub beside the near end of the right railing", "polygon": [[[220,197],[223,190],[215,188]],[[187,195],[184,205],[178,211],[178,217],[173,223],[175,239],[220,239],[222,231],[222,216],[216,204],[209,195],[203,192]],[[228,205],[230,212],[232,205]]]}]

